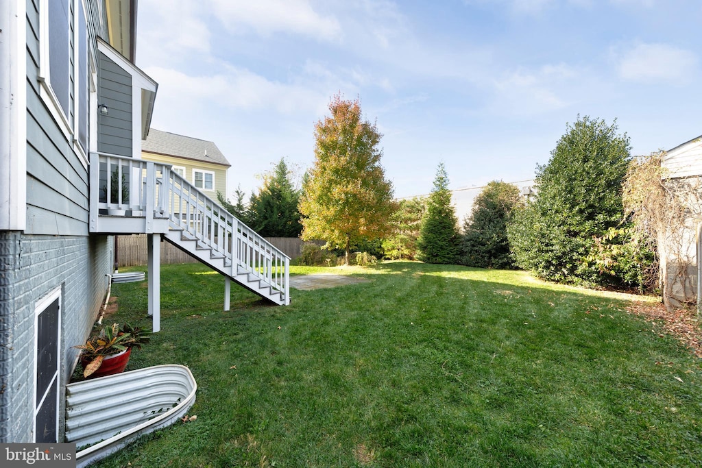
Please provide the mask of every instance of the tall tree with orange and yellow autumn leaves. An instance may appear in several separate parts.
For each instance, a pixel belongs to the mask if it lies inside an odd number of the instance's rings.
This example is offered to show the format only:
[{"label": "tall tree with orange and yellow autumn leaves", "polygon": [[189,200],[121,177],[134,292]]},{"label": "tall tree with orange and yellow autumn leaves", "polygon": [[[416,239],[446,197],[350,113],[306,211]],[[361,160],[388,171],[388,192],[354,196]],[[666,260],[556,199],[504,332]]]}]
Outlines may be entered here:
[{"label": "tall tree with orange and yellow autumn leaves", "polygon": [[329,111],[331,116],[314,126],[314,166],[299,207],[302,237],[343,248],[348,265],[355,243],[390,233],[397,203],[380,166],[383,135],[375,123],[363,120],[360,99],[344,100],[338,93]]}]

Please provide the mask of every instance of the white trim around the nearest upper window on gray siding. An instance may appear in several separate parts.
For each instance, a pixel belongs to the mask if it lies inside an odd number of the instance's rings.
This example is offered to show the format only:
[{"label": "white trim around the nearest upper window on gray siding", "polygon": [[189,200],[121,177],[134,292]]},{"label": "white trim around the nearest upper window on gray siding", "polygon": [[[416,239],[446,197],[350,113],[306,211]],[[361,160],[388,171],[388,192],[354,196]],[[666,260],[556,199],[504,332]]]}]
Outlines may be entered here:
[{"label": "white trim around the nearest upper window on gray siding", "polygon": [[[71,144],[74,152],[79,156],[79,160],[85,168],[88,167],[88,155],[81,149],[77,142],[78,133],[75,132],[76,128],[72,128],[71,123],[68,120],[68,116],[63,112],[61,105],[58,102],[58,98],[51,87],[50,71],[49,71],[49,40],[48,40],[48,2],[51,0],[39,0],[39,96],[41,100],[46,104],[48,112],[53,116],[53,119],[58,124],[66,140]],[[74,15],[77,12],[76,8],[80,8],[79,2],[81,0],[71,0],[73,4]],[[75,20],[75,18],[73,18]],[[86,22],[88,18],[86,17]],[[73,40],[73,65],[74,65],[74,94],[73,100],[69,102],[69,106],[73,107],[74,115],[77,114],[77,88],[79,80],[77,78],[78,64],[78,25],[74,24],[73,28],[74,40]],[[92,93],[92,91],[91,91]],[[92,99],[89,100],[90,105],[92,105]],[[91,112],[90,107],[88,107],[88,115],[94,114]],[[79,119],[75,119],[78,121]]]}]

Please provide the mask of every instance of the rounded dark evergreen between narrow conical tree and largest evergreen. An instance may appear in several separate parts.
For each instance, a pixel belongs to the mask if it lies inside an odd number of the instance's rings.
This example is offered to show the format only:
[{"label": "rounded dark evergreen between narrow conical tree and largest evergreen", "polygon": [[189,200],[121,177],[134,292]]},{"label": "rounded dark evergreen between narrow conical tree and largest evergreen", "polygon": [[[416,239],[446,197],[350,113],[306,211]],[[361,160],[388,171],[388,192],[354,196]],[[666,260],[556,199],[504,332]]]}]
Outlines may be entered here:
[{"label": "rounded dark evergreen between narrow conical tree and largest evergreen", "polygon": [[469,267],[511,268],[507,222],[519,203],[519,189],[506,182],[490,182],[473,201],[463,223],[461,263]]}]

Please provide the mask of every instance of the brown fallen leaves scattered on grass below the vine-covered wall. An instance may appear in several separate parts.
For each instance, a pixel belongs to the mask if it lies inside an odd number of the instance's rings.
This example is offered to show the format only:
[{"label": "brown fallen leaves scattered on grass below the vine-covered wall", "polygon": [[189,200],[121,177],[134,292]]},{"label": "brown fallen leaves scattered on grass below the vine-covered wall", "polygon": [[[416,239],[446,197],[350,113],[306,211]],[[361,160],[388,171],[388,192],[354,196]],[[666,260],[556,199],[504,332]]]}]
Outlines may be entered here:
[{"label": "brown fallen leaves scattered on grass below the vine-covered wall", "polygon": [[[663,304],[637,302],[627,307],[628,312],[644,318],[649,323],[660,326],[663,333],[676,337],[689,347],[698,358],[702,358],[701,330],[697,313],[694,310],[676,309],[668,312]],[[659,330],[660,331],[660,330]],[[652,333],[658,333],[655,328]],[[663,334],[658,333],[659,336]]]}]

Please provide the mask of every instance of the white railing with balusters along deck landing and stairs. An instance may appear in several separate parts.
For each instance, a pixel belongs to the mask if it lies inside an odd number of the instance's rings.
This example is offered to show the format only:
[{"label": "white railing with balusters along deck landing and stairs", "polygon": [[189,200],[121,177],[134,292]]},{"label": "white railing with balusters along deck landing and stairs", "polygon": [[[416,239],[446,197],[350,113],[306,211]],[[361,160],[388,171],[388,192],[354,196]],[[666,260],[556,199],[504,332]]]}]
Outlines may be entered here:
[{"label": "white railing with balusters along deck landing and stairs", "polygon": [[91,226],[100,215],[138,217],[146,218],[145,232],[152,233],[154,219],[168,219],[186,238],[211,248],[213,257],[224,258],[226,274],[255,276],[289,303],[290,258],[170,165],[93,153],[91,166]]}]

